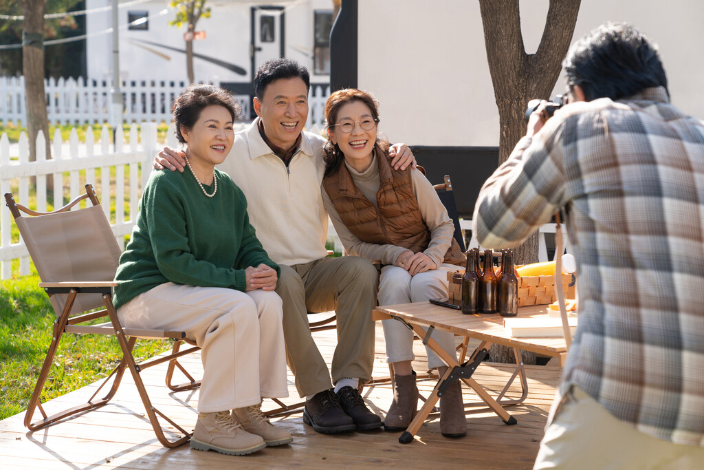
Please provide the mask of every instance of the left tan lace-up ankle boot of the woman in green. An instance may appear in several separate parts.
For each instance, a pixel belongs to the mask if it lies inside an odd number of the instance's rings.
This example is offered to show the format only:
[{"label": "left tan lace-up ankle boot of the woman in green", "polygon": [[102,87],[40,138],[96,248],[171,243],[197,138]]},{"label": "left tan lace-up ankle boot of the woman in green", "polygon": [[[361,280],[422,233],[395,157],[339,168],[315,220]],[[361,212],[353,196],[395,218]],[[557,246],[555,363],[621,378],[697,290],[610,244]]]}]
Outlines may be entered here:
[{"label": "left tan lace-up ankle boot of the woman in green", "polygon": [[191,437],[191,449],[245,455],[264,447],[264,440],[244,431],[239,423],[232,421],[229,411],[198,414],[196,429]]}]

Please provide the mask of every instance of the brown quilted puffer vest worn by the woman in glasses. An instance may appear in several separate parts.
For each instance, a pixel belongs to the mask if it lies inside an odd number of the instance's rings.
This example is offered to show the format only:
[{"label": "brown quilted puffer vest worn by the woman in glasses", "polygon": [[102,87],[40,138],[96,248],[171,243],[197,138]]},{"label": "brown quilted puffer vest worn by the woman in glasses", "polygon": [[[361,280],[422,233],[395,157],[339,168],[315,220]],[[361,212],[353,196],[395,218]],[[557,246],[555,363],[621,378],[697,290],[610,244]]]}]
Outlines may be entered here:
[{"label": "brown quilted puffer vest worn by the woman in glasses", "polygon": [[[420,215],[410,171],[394,171],[389,156],[376,147],[379,164],[377,206],[354,184],[344,163],[322,180],[322,185],[347,228],[363,242],[396,245],[422,252],[430,230]],[[464,266],[466,259],[453,238],[444,262]]]}]

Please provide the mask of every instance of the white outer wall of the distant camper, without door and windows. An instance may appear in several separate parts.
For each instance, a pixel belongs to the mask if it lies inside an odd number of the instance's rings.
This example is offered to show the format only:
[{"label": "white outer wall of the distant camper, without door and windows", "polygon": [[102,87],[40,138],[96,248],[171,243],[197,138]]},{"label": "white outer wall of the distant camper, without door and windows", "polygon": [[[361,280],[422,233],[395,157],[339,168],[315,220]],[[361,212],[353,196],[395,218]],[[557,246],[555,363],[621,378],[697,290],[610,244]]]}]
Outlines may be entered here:
[{"label": "white outer wall of the distant camper, without door and windows", "polygon": [[[87,8],[109,6],[110,0],[87,0]],[[194,52],[220,59],[244,68],[245,75],[239,75],[208,61],[194,58],[196,80],[220,82],[251,82],[251,7],[275,5],[284,7],[285,22],[284,54],[313,68],[313,11],[332,10],[332,0],[298,1],[251,1],[251,0],[209,0],[210,18],[201,18],[196,30],[205,31],[206,39],[193,42]],[[167,1],[149,1],[145,4],[119,9],[120,28],[120,75],[128,80],[187,80],[186,56],[152,44],[142,44],[144,39],[165,44],[177,49],[185,49],[183,34],[185,27],[177,28],[168,23],[175,16],[168,11]],[[127,30],[128,11],[149,11],[149,30]],[[87,32],[107,30],[112,25],[111,11],[94,13],[88,16]],[[278,31],[277,31],[278,34]],[[149,50],[151,49],[151,51]],[[112,76],[112,35],[97,35],[87,40],[87,66],[89,78],[105,80]],[[327,80],[327,76],[318,77]]]}]

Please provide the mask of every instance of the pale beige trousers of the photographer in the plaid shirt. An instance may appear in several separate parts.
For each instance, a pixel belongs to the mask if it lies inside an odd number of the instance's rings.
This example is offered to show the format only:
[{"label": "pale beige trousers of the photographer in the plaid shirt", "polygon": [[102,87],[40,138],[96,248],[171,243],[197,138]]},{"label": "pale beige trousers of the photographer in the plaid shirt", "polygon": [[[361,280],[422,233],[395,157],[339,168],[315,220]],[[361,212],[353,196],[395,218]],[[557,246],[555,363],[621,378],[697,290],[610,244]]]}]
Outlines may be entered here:
[{"label": "pale beige trousers of the photographer in the plaid shirt", "polygon": [[582,389],[555,396],[534,469],[693,470],[704,447],[643,434],[615,418]]}]

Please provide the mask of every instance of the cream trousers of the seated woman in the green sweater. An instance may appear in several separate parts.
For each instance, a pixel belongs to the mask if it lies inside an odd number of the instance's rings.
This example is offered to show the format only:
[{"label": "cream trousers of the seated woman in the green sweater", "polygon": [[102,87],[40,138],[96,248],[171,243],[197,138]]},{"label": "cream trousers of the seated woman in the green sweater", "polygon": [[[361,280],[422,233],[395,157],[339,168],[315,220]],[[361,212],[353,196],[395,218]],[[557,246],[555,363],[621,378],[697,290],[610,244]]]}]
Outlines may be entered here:
[{"label": "cream trousers of the seated woman in the green sweater", "polygon": [[201,413],[289,396],[275,292],[165,283],[118,309],[122,326],[183,330],[201,347]]}]

